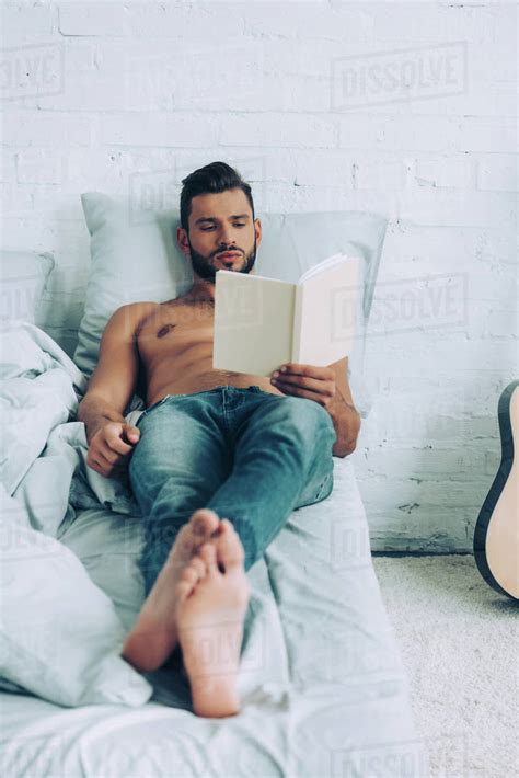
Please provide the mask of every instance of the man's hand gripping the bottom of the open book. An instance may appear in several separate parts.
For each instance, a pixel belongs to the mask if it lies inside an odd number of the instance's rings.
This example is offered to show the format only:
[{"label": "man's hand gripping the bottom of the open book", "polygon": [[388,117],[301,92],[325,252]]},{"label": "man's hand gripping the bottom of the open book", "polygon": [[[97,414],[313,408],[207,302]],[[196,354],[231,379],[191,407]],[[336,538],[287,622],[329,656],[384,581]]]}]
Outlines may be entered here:
[{"label": "man's hand gripping the bottom of the open book", "polygon": [[335,373],[331,367],[289,362],[272,374],[270,384],[284,394],[304,397],[328,410],[335,398]]}]

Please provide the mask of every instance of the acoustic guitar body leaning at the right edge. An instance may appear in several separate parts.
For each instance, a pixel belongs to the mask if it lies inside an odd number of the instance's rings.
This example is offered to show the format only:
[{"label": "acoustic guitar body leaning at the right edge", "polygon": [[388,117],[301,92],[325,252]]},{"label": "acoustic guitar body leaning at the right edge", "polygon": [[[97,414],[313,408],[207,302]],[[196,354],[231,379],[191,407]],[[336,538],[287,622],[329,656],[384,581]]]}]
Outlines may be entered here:
[{"label": "acoustic guitar body leaning at the right edge", "polygon": [[474,530],[474,557],[485,581],[519,599],[519,381],[498,404],[501,462]]}]

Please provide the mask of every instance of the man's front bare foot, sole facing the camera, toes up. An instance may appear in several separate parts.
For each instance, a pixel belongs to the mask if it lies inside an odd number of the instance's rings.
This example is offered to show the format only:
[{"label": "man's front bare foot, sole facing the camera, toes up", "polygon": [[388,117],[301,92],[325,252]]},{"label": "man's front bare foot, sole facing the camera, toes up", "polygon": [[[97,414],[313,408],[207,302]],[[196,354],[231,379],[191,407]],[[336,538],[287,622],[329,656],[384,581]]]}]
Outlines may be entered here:
[{"label": "man's front bare foot, sole facing the camera, toes up", "polygon": [[231,523],[222,524],[217,542],[200,548],[176,585],[176,626],[193,711],[210,718],[240,709],[237,675],[250,596],[243,547]]}]

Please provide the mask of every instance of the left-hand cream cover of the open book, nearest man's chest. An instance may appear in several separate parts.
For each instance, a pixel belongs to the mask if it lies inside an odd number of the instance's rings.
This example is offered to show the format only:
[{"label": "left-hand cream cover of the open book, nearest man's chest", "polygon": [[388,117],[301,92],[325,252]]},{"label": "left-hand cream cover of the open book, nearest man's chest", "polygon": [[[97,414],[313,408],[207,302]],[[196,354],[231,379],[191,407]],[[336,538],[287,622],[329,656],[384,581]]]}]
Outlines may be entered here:
[{"label": "left-hand cream cover of the open book, nearest man's chest", "polygon": [[269,376],[289,362],[295,294],[286,281],[218,271],[212,367]]}]

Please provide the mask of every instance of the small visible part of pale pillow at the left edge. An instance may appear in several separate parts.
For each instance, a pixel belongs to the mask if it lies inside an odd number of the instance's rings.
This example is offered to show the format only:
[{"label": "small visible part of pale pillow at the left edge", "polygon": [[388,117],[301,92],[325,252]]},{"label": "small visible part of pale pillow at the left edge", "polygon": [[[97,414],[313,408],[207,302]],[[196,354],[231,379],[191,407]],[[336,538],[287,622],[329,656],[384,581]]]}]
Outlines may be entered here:
[{"label": "small visible part of pale pillow at the left edge", "polygon": [[0,251],[0,325],[16,319],[36,323],[55,264],[54,256],[47,253]]}]

